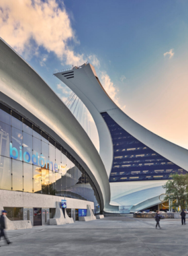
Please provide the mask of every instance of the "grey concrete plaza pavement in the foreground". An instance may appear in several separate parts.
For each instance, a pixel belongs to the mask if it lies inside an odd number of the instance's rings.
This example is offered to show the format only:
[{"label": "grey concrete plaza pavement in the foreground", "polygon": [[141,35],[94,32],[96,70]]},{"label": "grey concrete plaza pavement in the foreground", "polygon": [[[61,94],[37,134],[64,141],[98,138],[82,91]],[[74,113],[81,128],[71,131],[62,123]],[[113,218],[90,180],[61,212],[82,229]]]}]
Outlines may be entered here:
[{"label": "grey concrete plaza pavement in the foreground", "polygon": [[62,226],[8,230],[11,245],[1,241],[0,255],[188,255],[188,223],[107,217]]}]

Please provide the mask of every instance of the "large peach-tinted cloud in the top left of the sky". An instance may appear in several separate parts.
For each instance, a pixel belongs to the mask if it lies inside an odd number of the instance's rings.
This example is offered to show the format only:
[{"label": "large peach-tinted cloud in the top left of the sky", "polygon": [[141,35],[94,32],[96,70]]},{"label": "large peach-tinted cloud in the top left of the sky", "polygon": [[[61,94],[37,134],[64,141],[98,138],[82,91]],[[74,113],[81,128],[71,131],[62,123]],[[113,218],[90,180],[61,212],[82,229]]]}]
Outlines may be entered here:
[{"label": "large peach-tinted cloud in the top left of the sky", "polygon": [[79,42],[64,4],[60,7],[55,0],[1,0],[0,34],[24,57],[38,55],[39,47],[43,47],[66,65],[85,62],[83,55],[68,46],[71,40]]}]

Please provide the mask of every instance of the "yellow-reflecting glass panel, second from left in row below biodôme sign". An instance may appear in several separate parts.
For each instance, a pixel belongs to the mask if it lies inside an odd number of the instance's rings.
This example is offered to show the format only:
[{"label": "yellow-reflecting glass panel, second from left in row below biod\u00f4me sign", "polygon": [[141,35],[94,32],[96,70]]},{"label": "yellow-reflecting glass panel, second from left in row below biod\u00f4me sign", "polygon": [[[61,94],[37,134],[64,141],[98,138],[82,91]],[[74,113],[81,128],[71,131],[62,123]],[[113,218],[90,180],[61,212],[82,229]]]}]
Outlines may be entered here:
[{"label": "yellow-reflecting glass panel, second from left in row below biod\u00f4me sign", "polygon": [[12,189],[23,191],[23,162],[12,160]]}]

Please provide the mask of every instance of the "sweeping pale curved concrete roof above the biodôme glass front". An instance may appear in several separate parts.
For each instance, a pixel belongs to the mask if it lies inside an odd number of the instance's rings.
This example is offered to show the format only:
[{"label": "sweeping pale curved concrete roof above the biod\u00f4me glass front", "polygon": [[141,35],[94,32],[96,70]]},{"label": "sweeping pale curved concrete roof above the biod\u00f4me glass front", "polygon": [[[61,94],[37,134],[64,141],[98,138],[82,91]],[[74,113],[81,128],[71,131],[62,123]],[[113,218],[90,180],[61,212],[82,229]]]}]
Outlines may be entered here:
[{"label": "sweeping pale curved concrete roof above the biod\u00f4me glass front", "polygon": [[85,168],[99,193],[101,210],[112,208],[105,166],[87,133],[40,75],[2,39],[0,90],[1,100],[7,100],[36,125],[47,129]]}]

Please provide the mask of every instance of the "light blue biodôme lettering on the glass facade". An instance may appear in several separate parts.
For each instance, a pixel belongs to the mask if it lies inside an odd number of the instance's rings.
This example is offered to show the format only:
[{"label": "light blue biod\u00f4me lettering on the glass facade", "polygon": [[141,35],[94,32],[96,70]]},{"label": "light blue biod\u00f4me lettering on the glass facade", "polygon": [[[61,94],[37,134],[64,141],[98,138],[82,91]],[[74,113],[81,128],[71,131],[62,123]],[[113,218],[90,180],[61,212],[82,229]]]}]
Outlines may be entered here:
[{"label": "light blue biod\u00f4me lettering on the glass facade", "polygon": [[12,143],[10,143],[10,157],[13,159],[19,158],[19,160],[23,160],[24,162],[28,163],[32,160],[34,165],[38,165],[46,169],[49,168],[50,170],[54,170],[54,172],[58,172],[58,165],[56,163],[53,164],[52,161],[47,159],[45,160],[43,154],[40,154],[39,158],[39,154],[37,152],[31,156],[30,153],[26,151],[23,153],[22,159],[22,147],[19,146],[19,150],[17,150],[17,148],[13,148]]}]

